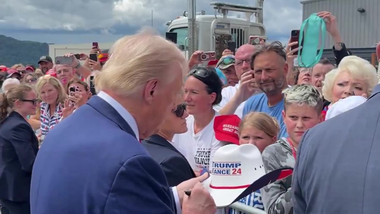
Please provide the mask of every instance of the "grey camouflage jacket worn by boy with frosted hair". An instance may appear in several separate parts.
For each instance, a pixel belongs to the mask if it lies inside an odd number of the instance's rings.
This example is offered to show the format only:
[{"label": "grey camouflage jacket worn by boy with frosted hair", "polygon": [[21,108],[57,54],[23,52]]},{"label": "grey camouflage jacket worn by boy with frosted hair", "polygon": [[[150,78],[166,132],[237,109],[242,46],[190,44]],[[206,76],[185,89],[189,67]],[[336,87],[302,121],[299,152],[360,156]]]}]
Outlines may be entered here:
[{"label": "grey camouflage jacket worn by boy with frosted hair", "polygon": [[[267,173],[282,167],[294,168],[295,160],[286,138],[266,147],[262,157]],[[292,176],[289,176],[261,189],[264,209],[268,214],[293,214],[291,180]]]}]

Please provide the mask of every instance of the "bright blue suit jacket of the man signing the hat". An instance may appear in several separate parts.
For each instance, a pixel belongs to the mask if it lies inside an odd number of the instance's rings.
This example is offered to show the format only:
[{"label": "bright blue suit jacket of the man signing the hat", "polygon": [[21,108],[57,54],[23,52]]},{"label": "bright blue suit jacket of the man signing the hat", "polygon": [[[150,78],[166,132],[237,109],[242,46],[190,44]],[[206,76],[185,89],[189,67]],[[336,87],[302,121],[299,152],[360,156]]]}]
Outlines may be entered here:
[{"label": "bright blue suit jacket of the man signing the hat", "polygon": [[94,96],[46,136],[35,160],[32,214],[175,213],[160,166]]}]

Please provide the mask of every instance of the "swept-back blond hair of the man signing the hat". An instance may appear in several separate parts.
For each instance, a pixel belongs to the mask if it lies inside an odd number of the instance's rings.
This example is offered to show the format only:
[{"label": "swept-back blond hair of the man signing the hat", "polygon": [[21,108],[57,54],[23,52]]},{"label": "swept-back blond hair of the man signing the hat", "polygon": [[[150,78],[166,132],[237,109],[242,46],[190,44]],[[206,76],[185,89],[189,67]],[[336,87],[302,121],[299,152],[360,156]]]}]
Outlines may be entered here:
[{"label": "swept-back blond hair of the man signing the hat", "polygon": [[149,80],[173,81],[175,76],[168,68],[175,63],[180,64],[178,69],[185,75],[188,64],[177,46],[152,30],[142,30],[114,43],[106,64],[95,78],[95,89],[135,96]]}]

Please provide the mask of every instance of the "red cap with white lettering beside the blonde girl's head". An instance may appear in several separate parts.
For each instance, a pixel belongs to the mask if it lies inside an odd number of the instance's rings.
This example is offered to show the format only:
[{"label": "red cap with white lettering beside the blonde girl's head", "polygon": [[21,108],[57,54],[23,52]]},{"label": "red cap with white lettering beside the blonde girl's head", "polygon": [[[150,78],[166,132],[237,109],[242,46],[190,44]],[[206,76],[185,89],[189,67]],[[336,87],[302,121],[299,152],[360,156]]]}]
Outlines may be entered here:
[{"label": "red cap with white lettering beside the blonde girl's head", "polygon": [[241,119],[237,115],[221,115],[214,119],[215,138],[239,145],[239,124]]}]

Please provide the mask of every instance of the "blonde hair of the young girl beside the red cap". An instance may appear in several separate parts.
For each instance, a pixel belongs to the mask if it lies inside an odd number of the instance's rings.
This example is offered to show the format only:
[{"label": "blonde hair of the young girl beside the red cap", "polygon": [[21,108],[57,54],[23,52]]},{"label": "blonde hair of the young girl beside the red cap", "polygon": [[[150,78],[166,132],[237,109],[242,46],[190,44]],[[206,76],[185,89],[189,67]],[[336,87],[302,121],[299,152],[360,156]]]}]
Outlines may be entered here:
[{"label": "blonde hair of the young girl beside the red cap", "polygon": [[239,136],[246,127],[254,127],[273,137],[279,134],[280,126],[276,118],[264,112],[250,112],[244,116],[239,125]]}]

